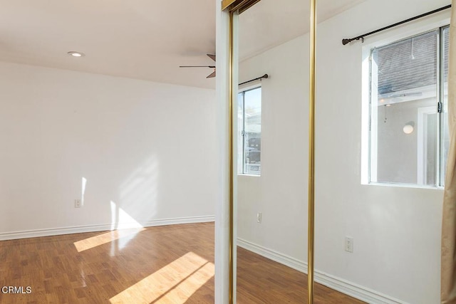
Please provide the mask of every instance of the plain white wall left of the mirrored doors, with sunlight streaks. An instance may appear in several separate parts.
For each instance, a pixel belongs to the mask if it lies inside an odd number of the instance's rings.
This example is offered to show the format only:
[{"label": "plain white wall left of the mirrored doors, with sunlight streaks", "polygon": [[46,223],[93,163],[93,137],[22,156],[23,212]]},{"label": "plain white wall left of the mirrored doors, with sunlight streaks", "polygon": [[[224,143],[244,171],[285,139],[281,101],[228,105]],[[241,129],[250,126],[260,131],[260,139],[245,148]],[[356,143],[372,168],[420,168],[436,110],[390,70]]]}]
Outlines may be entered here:
[{"label": "plain white wall left of the mirrored doors, with sunlight streaks", "polygon": [[0,63],[0,234],[213,219],[214,100],[214,90]]}]

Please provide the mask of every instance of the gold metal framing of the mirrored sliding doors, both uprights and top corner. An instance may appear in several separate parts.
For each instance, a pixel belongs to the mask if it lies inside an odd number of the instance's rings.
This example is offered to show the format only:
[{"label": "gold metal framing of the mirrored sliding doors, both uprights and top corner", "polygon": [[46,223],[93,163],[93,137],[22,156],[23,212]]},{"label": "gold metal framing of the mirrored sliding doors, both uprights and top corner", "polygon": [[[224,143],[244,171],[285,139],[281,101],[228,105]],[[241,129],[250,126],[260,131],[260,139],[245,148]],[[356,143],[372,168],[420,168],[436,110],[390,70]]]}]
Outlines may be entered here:
[{"label": "gold metal framing of the mirrored sliding doors, both uprights and top corner", "polygon": [[[233,164],[233,105],[234,105],[234,13],[241,14],[260,0],[222,0],[222,11],[229,11],[228,51],[228,158],[229,158],[229,304],[234,299],[234,164]],[[310,1],[310,64],[309,64],[309,218],[307,236],[307,288],[308,303],[314,303],[314,235],[315,235],[315,58],[316,58],[316,0]]]}]

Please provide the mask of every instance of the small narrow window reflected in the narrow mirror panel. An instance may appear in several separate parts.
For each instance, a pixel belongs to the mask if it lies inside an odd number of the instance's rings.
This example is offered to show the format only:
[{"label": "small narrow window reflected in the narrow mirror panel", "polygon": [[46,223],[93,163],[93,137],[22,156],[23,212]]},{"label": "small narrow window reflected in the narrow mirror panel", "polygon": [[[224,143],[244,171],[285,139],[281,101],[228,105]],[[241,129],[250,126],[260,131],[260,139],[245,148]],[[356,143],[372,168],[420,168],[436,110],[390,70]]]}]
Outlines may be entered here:
[{"label": "small narrow window reflected in the narrow mirror panel", "polygon": [[244,90],[237,96],[237,172],[261,172],[261,87]]}]

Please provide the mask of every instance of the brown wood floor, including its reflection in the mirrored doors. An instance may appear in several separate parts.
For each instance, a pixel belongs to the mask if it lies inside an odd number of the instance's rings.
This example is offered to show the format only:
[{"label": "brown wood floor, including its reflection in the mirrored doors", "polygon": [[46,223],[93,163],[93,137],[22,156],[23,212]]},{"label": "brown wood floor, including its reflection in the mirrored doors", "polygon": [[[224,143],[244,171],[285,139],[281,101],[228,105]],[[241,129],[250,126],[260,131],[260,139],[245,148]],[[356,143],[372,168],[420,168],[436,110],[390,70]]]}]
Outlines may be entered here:
[{"label": "brown wood floor, including its reflection in the mirrored doors", "polygon": [[[238,248],[237,303],[306,303],[306,276]],[[214,224],[0,242],[0,303],[214,303]],[[363,303],[316,284],[314,303]]]}]

